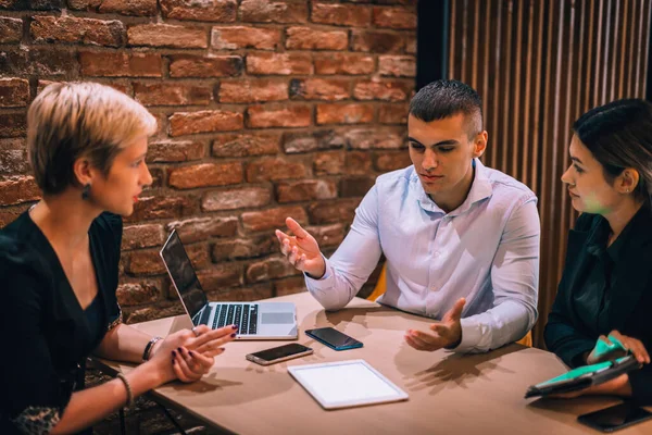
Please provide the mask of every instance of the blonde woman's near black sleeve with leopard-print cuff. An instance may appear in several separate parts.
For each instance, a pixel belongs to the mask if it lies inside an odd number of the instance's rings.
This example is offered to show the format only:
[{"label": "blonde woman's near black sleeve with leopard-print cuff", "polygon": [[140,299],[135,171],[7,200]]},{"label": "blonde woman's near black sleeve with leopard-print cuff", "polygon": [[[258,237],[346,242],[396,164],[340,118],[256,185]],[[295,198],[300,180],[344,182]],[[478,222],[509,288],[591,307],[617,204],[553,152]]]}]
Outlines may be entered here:
[{"label": "blonde woman's near black sleeve with leopard-print cuff", "polygon": [[72,395],[72,385],[62,383],[54,369],[45,336],[41,313],[48,301],[42,289],[51,284],[33,265],[38,260],[5,243],[0,236],[0,331],[7,350],[0,359],[1,413],[21,432],[46,433],[59,422]]}]

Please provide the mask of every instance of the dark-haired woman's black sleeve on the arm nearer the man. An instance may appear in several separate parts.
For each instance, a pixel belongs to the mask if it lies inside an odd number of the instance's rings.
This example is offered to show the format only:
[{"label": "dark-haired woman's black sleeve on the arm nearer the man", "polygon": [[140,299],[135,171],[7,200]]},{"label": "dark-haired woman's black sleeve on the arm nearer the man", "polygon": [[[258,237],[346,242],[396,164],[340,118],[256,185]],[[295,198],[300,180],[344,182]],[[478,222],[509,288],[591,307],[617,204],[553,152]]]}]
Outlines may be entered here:
[{"label": "dark-haired woman's black sleeve on the arm nearer the man", "polygon": [[[577,231],[588,231],[593,222],[593,216],[590,214],[581,214],[575,224]],[[566,253],[565,269],[568,264],[575,261],[573,252]],[[566,283],[567,271],[564,271],[562,281],[557,287],[557,294],[552,304],[552,310],[548,315],[548,323],[543,337],[546,346],[564,363],[570,368],[586,365],[586,361],[581,358],[585,352],[591,351],[595,346],[597,338],[588,336],[580,331],[574,322],[574,313],[572,307],[568,306],[570,300],[572,288],[568,288]]]}]

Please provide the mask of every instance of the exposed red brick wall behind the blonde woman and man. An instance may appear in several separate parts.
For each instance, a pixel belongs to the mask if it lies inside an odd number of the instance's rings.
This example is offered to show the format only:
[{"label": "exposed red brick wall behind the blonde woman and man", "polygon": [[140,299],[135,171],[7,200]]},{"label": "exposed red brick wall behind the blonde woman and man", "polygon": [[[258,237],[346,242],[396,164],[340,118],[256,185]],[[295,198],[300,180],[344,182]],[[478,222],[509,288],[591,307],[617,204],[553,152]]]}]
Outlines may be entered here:
[{"label": "exposed red brick wall behind the blonde woman and man", "polygon": [[0,0],[0,226],[40,195],[29,102],[52,82],[104,83],[160,126],[154,183],[125,220],[127,321],[183,310],[158,254],[172,228],[214,300],[304,290],[274,228],[291,215],[330,254],[375,177],[410,164],[415,4]]}]

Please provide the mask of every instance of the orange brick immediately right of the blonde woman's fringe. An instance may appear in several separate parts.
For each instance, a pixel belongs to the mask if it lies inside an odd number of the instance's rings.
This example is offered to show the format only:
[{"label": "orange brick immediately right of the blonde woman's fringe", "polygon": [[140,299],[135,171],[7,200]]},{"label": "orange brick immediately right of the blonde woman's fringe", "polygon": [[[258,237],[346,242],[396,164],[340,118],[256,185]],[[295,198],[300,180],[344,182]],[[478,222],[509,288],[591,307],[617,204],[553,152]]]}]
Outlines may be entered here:
[{"label": "orange brick immediately right of the blonde woman's fringe", "polygon": [[243,126],[242,120],[242,113],[221,110],[178,112],[170,116],[170,135],[181,136],[240,129]]}]

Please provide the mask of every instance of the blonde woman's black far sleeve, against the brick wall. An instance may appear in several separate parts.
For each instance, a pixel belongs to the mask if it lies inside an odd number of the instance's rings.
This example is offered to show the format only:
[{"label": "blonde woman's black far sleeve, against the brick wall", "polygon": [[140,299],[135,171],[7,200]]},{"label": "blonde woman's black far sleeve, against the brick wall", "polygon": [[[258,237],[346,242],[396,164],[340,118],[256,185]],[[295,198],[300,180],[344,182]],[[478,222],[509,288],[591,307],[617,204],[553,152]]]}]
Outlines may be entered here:
[{"label": "blonde woman's black far sleeve, against the brick wall", "polygon": [[121,256],[123,220],[120,215],[104,212],[100,214],[97,222],[101,232],[102,249],[104,250],[104,266],[108,268],[106,306],[109,319],[106,330],[111,331],[122,323],[123,313],[115,297],[118,281],[118,263]]}]

